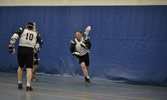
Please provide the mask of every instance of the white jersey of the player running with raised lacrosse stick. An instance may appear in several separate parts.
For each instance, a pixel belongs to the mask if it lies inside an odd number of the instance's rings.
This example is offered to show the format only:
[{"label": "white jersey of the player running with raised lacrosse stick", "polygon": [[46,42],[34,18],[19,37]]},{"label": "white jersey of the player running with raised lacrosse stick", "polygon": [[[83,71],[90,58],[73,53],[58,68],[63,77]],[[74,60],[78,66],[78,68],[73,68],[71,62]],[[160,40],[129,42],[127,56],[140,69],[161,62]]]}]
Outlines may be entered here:
[{"label": "white jersey of the player running with raised lacrosse stick", "polygon": [[81,46],[81,44],[84,42],[83,37],[81,41],[78,41],[77,39],[75,39],[75,42],[76,42],[75,48],[77,52],[80,53],[80,56],[83,56],[89,52],[88,49],[85,49],[84,47]]}]

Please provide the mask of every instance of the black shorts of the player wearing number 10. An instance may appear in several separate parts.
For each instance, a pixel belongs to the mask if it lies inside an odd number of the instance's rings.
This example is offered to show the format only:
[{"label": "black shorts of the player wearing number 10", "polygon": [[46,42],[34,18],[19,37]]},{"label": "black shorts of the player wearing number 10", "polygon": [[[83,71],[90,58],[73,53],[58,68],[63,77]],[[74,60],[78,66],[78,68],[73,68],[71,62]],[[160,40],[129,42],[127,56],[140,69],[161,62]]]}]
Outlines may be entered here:
[{"label": "black shorts of the player wearing number 10", "polygon": [[21,68],[33,68],[33,48],[30,47],[18,47],[17,52],[18,64]]}]

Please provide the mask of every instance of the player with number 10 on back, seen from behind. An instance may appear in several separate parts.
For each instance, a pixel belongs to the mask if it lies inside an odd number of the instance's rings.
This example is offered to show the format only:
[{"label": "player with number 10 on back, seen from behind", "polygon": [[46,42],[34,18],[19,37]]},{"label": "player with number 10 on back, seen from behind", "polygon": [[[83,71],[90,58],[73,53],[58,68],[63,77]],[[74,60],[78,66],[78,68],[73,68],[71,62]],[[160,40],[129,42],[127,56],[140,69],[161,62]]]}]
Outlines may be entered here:
[{"label": "player with number 10 on back, seen from behind", "polygon": [[37,43],[37,33],[33,31],[34,23],[29,22],[26,26],[26,29],[20,28],[10,40],[9,52],[14,53],[14,44],[17,39],[19,41],[19,47],[17,52],[18,58],[18,89],[22,89],[22,75],[23,68],[26,66],[27,71],[27,85],[26,91],[32,91],[31,87],[31,78],[32,78],[32,68],[33,68],[33,49]]}]

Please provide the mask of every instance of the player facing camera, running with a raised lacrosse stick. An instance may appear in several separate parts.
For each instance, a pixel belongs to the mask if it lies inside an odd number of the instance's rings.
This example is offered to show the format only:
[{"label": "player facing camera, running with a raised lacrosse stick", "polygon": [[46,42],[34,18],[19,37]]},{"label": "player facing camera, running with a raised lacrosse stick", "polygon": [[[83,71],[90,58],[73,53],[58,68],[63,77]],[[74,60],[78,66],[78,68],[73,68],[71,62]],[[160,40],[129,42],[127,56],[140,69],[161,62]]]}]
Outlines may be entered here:
[{"label": "player facing camera, running with a raised lacrosse stick", "polygon": [[90,83],[90,77],[88,75],[89,70],[89,51],[91,48],[90,38],[82,37],[82,31],[76,31],[76,39],[71,40],[71,53],[77,57],[79,64],[81,65],[85,81]]}]

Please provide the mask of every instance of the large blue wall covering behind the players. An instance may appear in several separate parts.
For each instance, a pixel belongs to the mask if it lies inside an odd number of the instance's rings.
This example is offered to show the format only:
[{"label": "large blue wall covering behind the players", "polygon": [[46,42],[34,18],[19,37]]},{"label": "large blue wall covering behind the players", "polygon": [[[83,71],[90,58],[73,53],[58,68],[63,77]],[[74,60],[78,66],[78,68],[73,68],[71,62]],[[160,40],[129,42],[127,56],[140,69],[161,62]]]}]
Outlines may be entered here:
[{"label": "large blue wall covering behind the players", "polygon": [[12,34],[29,21],[44,40],[38,72],[77,76],[70,53],[75,30],[92,26],[90,76],[116,82],[167,83],[167,6],[0,7],[0,71],[16,72]]}]

